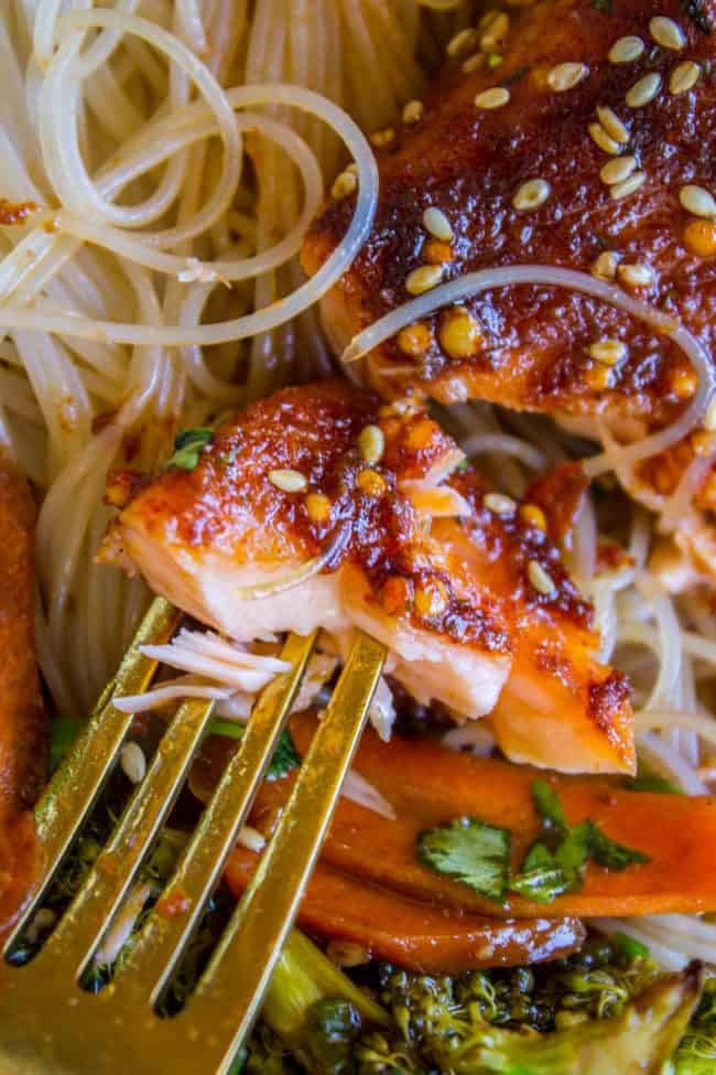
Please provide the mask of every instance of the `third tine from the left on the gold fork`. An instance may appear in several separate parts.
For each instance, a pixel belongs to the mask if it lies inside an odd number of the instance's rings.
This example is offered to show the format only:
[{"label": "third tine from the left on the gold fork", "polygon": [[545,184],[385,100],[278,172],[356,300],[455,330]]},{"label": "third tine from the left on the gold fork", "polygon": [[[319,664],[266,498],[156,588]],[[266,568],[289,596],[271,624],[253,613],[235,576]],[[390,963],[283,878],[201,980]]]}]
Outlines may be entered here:
[{"label": "third tine from the left on the gold fork", "polygon": [[206,904],[216,888],[239,829],[285,727],[317,632],[290,635],[281,658],[292,665],[263,690],[241,745],[226,767],[219,785],[164,890],[162,904],[186,907],[182,915],[153,914],[145,923],[124,965],[128,989],[155,1003],[181,960]]}]

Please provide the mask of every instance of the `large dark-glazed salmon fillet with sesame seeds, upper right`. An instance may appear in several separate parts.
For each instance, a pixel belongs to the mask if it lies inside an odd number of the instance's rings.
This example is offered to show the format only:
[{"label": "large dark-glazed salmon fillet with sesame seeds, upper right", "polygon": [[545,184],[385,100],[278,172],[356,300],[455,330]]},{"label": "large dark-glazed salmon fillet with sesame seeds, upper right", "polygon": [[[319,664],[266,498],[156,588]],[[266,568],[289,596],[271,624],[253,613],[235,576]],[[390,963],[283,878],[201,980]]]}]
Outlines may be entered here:
[{"label": "large dark-glazed salmon fillet with sesame seeds, upper right", "polygon": [[[514,7],[499,23],[486,14],[420,119],[380,140],[372,233],[323,302],[336,351],[413,298],[421,267],[449,281],[532,262],[614,280],[713,354],[715,0]],[[354,206],[354,195],[326,205],[305,240],[306,271],[335,249]],[[428,208],[443,214],[437,228]],[[610,340],[618,350],[595,359],[594,344]],[[618,440],[671,422],[696,388],[671,340],[606,302],[543,286],[488,289],[426,316],[368,356],[366,374],[391,398],[412,389],[571,416],[595,439],[599,416]],[[694,456],[715,447],[697,430],[642,466],[631,492],[660,510]],[[694,577],[716,578],[716,467],[694,492],[679,544]]]}]

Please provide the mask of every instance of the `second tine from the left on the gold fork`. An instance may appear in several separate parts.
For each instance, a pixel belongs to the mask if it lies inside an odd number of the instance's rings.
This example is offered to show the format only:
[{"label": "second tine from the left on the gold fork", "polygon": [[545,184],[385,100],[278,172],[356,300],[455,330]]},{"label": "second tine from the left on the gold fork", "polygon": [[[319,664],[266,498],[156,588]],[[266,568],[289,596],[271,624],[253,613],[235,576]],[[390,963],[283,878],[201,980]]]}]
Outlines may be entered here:
[{"label": "second tine from the left on the gold fork", "polygon": [[180,706],[107,847],[36,957],[39,965],[47,965],[47,972],[55,960],[82,975],[176,802],[213,708],[210,699]]}]

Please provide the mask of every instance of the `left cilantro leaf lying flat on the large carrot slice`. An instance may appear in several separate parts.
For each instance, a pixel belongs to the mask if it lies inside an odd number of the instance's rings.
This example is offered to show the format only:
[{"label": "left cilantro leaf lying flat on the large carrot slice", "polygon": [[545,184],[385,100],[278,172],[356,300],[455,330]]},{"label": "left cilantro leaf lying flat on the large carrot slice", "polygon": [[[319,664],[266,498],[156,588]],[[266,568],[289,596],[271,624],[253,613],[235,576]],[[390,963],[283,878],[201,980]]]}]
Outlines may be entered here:
[{"label": "left cilantro leaf lying flat on the large carrot slice", "polygon": [[425,829],[417,837],[417,857],[424,866],[500,903],[507,894],[511,847],[509,829],[475,817]]}]

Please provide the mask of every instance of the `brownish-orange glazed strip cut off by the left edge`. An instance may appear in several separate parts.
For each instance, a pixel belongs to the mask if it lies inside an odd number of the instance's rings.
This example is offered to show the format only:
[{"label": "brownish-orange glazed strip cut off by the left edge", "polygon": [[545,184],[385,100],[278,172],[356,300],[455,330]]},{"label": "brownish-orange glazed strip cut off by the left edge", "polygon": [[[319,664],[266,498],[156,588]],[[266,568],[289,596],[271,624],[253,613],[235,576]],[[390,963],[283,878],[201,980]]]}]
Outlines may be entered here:
[{"label": "brownish-orange glazed strip cut off by the left edge", "polygon": [[34,877],[29,808],[46,772],[34,643],[34,520],[26,482],[0,460],[0,932]]}]

